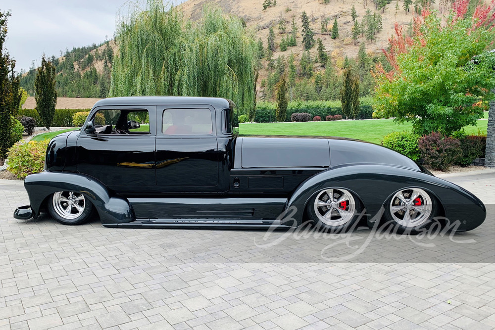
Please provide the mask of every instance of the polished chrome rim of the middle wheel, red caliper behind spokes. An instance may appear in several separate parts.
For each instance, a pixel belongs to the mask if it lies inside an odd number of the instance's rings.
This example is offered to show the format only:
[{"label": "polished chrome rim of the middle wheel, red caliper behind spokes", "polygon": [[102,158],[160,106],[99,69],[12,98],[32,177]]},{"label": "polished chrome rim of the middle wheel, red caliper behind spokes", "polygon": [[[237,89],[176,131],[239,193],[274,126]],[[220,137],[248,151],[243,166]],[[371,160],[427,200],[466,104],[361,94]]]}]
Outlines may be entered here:
[{"label": "polished chrome rim of the middle wheel, red caliper behind spokes", "polygon": [[347,224],[354,217],[356,202],[346,189],[325,189],[314,200],[318,220],[328,226]]}]

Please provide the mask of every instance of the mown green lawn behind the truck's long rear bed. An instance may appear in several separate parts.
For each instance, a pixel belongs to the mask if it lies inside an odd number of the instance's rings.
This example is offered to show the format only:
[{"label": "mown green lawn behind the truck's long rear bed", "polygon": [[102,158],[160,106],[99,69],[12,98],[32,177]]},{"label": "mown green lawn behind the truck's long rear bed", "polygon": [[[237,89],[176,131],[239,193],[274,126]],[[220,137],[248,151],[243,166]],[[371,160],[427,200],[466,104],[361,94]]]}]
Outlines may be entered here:
[{"label": "mown green lawn behind the truck's long rear bed", "polygon": [[[488,120],[478,120],[478,126],[468,126],[468,134],[487,131]],[[244,123],[239,125],[240,134],[335,136],[380,143],[383,137],[394,131],[411,131],[411,124],[398,125],[393,119],[340,120],[305,123]]]}]

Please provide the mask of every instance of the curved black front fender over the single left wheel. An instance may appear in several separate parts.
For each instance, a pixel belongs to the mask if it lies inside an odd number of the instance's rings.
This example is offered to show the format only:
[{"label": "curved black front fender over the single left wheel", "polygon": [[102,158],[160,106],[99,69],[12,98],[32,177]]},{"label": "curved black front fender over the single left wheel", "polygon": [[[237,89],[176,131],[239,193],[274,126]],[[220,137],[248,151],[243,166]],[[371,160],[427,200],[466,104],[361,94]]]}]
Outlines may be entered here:
[{"label": "curved black front fender over the single left wheel", "polygon": [[90,176],[68,172],[41,172],[24,180],[33,216],[40,214],[43,201],[57,191],[79,191],[98,211],[101,222],[122,223],[136,220],[131,204],[125,198],[111,196],[108,189]]}]

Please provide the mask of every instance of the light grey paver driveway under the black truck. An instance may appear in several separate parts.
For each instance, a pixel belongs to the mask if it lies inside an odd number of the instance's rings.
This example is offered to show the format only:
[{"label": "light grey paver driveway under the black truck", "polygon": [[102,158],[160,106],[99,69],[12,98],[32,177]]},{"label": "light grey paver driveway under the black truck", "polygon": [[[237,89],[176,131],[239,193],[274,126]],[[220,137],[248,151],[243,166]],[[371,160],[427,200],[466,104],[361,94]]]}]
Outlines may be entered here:
[{"label": "light grey paver driveway under the black truck", "polygon": [[448,180],[488,219],[413,240],[17,221],[1,181],[0,328],[493,329],[495,173]]}]

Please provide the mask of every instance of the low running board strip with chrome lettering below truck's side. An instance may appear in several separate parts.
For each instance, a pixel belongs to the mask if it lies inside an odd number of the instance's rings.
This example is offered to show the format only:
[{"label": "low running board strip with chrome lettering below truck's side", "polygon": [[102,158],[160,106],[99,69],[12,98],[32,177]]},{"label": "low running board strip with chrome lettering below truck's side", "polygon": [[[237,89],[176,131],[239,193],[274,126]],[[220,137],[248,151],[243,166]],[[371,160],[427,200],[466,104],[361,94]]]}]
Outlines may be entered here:
[{"label": "low running board strip with chrome lettering below truck's side", "polygon": [[288,229],[280,220],[218,220],[218,219],[136,219],[120,224],[102,224],[111,228],[189,228],[189,229]]}]

